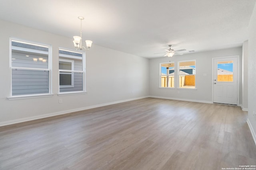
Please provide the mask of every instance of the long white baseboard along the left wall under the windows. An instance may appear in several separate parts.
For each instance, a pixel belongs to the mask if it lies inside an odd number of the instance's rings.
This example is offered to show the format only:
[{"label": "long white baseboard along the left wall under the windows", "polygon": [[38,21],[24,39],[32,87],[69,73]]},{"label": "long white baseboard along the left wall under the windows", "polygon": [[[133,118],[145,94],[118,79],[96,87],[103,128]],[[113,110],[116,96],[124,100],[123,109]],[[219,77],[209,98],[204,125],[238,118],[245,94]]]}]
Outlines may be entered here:
[{"label": "long white baseboard along the left wall under the windows", "polygon": [[116,101],[116,102],[98,104],[98,105],[88,106],[88,107],[80,107],[80,108],[76,108],[76,109],[58,111],[58,112],[48,113],[48,114],[44,114],[44,115],[25,117],[25,118],[22,118],[22,119],[15,119],[15,120],[11,120],[11,121],[4,121],[4,122],[0,122],[0,126],[12,125],[12,124],[15,124],[15,123],[21,123],[21,122],[31,121],[31,120],[36,120],[36,119],[42,119],[42,118],[52,117],[52,116],[56,116],[56,115],[63,115],[63,114],[72,113],[72,112],[75,112],[75,111],[82,111],[82,110],[92,109],[92,108],[96,108],[96,107],[102,107],[102,106],[108,106],[108,105],[112,105],[112,104],[129,102],[129,101],[132,101],[132,100],[138,100],[138,99],[148,98],[148,97],[150,97],[150,96],[144,96],[144,97],[140,97],[140,98],[132,98],[132,99],[126,99],[126,100],[119,100],[119,101]]}]

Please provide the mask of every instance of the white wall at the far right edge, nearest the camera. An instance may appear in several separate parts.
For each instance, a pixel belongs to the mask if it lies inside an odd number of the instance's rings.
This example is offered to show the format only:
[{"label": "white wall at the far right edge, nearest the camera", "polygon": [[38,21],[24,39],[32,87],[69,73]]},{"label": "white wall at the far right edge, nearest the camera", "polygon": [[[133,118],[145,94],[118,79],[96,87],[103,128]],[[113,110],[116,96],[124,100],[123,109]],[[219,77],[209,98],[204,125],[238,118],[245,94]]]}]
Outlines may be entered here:
[{"label": "white wall at the far right edge, nearest the camera", "polygon": [[256,143],[256,5],[249,24],[248,39],[248,124]]}]

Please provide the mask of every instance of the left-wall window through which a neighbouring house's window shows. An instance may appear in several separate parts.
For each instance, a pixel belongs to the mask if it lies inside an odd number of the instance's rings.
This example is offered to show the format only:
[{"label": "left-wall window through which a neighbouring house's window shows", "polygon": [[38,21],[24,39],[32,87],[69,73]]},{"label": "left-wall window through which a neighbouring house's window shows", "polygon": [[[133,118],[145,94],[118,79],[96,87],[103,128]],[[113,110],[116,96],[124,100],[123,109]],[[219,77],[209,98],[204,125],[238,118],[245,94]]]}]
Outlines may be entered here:
[{"label": "left-wall window through which a neighbouring house's window shows", "polygon": [[59,49],[59,92],[84,91],[84,53]]}]

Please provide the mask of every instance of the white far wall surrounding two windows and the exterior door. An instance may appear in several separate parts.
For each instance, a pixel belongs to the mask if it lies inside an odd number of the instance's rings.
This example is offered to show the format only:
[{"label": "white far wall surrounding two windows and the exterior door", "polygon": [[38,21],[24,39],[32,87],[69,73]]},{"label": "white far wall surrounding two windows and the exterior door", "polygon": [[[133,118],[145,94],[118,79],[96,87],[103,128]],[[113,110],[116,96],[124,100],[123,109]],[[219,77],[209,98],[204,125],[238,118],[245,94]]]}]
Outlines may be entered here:
[{"label": "white far wall surrounding two windows and the exterior door", "polygon": [[[191,53],[186,55],[175,55],[174,57],[161,57],[150,59],[150,96],[161,98],[174,98],[178,100],[212,102],[212,58],[239,55],[240,65],[242,63],[242,47],[207,51],[202,53]],[[196,60],[196,90],[159,88],[159,63],[169,61]],[[241,66],[240,66],[241,68]],[[241,70],[241,69],[240,69]],[[203,76],[206,74],[206,76]],[[240,71],[242,74],[242,71]],[[176,81],[176,79],[175,79]],[[177,82],[175,82],[177,84]],[[240,76],[240,96],[242,95],[242,78]],[[176,85],[177,86],[177,85]],[[242,103],[242,99],[240,99]]]}]

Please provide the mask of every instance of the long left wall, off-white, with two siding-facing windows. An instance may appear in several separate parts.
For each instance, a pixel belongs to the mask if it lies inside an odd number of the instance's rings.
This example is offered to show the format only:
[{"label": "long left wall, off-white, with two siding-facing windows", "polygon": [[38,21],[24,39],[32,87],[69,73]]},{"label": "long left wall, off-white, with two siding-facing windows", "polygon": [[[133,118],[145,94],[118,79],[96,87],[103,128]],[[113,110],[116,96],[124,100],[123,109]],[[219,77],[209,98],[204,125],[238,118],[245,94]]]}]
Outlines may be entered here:
[{"label": "long left wall, off-white, with two siding-facing windows", "polygon": [[[86,94],[58,96],[58,47],[74,49],[70,38],[0,20],[0,125],[101,106],[149,95],[149,60],[92,45],[86,51]],[[52,45],[54,96],[8,100],[10,90],[9,38]],[[63,103],[59,104],[58,99]]]}]

